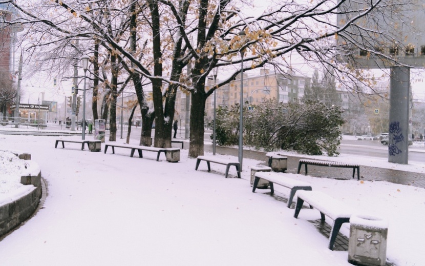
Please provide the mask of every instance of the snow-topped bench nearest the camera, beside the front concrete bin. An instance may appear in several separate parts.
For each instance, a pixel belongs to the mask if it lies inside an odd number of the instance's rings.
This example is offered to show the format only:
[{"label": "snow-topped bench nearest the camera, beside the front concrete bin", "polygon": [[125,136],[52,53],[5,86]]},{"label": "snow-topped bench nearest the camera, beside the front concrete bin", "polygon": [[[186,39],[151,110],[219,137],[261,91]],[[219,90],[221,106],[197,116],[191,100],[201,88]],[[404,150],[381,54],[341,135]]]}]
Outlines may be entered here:
[{"label": "snow-topped bench nearest the camera, beside the front concrete bin", "polygon": [[306,202],[310,204],[310,208],[314,208],[320,212],[322,221],[325,221],[325,215],[333,220],[328,245],[328,248],[333,250],[333,245],[339,229],[341,229],[343,223],[350,221],[350,217],[355,211],[343,202],[320,191],[299,191],[297,196],[298,199],[296,200],[294,213],[295,218],[298,218],[303,203]]}]

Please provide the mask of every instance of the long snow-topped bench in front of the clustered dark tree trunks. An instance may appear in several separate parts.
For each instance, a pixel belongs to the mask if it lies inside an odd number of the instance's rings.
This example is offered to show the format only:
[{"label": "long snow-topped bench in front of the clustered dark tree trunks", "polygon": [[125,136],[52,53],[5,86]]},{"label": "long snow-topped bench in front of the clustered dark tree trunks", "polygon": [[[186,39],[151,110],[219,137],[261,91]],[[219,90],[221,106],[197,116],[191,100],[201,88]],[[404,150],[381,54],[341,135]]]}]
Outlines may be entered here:
[{"label": "long snow-topped bench in front of the clustered dark tree trunks", "polygon": [[167,161],[177,162],[180,160],[180,149],[178,148],[157,148],[157,147],[150,147],[150,146],[115,144],[115,143],[108,142],[108,143],[105,143],[104,153],[107,152],[109,147],[112,148],[113,154],[115,153],[115,148],[125,148],[125,149],[131,149],[130,157],[133,157],[135,151],[137,150],[140,158],[143,158],[143,151],[151,151],[151,152],[157,153],[157,158],[156,158],[157,161],[159,161],[159,156],[161,155],[161,152],[164,153]]}]

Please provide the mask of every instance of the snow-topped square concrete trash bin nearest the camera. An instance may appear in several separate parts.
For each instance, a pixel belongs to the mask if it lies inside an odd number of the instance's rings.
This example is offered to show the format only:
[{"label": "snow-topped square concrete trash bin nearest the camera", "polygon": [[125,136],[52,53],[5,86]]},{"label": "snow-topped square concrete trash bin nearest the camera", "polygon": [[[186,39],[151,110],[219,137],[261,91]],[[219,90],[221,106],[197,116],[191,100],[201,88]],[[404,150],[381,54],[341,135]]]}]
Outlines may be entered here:
[{"label": "snow-topped square concrete trash bin nearest the camera", "polygon": [[368,215],[351,216],[348,262],[384,266],[387,260],[387,234],[387,220]]}]

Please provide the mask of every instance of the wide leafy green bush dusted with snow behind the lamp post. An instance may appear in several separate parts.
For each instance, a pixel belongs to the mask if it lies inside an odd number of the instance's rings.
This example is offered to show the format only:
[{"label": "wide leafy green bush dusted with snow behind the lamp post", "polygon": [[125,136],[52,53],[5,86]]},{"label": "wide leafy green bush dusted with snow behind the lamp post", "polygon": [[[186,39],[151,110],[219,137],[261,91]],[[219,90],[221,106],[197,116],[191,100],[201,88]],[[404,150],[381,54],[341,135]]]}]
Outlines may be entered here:
[{"label": "wide leafy green bush dusted with snow behind the lamp post", "polygon": [[[247,106],[247,104],[245,105]],[[266,100],[262,105],[244,107],[244,145],[273,151],[293,149],[309,155],[338,154],[344,123],[339,107],[318,101],[293,101],[281,104]],[[237,145],[239,105],[219,107],[216,139],[218,145]]]}]

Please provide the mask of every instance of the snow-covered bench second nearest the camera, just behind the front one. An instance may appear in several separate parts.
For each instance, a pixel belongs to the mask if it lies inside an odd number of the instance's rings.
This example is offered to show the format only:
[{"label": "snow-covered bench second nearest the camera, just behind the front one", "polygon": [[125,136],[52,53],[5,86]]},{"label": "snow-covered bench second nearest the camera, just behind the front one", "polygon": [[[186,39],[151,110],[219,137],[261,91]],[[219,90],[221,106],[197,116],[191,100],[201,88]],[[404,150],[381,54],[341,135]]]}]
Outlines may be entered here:
[{"label": "snow-covered bench second nearest the camera, just behind the front one", "polygon": [[273,184],[278,184],[282,187],[285,187],[291,190],[288,197],[288,204],[287,204],[288,208],[291,208],[292,200],[296,191],[311,190],[311,185],[309,183],[294,179],[296,178],[296,174],[257,172],[255,174],[254,183],[252,185],[252,192],[256,192],[257,185],[260,181],[260,178],[269,181],[271,193],[274,193]]}]

